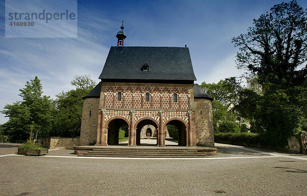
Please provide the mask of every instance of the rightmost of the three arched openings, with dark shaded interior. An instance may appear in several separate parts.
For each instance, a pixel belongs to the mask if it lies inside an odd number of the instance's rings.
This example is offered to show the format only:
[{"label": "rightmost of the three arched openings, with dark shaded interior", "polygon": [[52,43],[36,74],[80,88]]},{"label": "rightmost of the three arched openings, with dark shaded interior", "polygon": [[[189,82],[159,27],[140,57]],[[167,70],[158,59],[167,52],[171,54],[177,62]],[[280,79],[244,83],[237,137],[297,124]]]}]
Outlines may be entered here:
[{"label": "rightmost of the three arched openings, with dark shaded interior", "polygon": [[165,124],[169,132],[169,136],[173,141],[178,140],[178,145],[186,146],[187,145],[187,127],[181,120],[170,120]]}]

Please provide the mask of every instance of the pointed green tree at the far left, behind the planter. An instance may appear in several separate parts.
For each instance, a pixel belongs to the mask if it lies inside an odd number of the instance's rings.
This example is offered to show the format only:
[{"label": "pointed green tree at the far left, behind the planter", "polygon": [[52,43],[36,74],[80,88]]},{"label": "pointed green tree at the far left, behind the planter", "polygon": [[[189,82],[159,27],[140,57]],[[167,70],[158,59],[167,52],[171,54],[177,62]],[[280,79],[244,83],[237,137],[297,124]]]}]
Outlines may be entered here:
[{"label": "pointed green tree at the far left, behind the planter", "polygon": [[52,100],[42,95],[42,85],[38,77],[26,82],[26,87],[19,89],[23,101],[7,104],[1,111],[9,121],[3,125],[3,130],[13,142],[25,141],[29,138],[31,125],[38,136],[48,136],[52,123]]}]

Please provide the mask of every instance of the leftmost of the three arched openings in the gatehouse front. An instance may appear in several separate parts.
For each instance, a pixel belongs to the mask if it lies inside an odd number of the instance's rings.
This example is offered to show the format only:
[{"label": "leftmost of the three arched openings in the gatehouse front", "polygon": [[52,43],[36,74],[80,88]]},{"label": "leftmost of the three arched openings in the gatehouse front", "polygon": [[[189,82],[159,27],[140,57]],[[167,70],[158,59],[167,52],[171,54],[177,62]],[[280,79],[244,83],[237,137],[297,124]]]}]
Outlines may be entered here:
[{"label": "leftmost of the three arched openings in the gatehouse front", "polygon": [[107,126],[107,144],[118,145],[119,139],[122,139],[128,134],[128,124],[125,120],[116,118],[108,123]]}]

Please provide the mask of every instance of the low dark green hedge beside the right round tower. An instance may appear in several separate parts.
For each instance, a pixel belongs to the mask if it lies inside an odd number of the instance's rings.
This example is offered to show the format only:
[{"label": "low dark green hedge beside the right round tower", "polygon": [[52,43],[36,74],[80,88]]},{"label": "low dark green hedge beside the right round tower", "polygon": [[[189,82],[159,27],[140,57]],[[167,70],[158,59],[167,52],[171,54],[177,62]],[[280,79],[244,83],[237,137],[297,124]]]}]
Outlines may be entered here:
[{"label": "low dark green hedge beside the right round tower", "polygon": [[259,147],[260,136],[256,133],[217,133],[214,135],[217,143],[228,143],[235,145],[246,145]]}]

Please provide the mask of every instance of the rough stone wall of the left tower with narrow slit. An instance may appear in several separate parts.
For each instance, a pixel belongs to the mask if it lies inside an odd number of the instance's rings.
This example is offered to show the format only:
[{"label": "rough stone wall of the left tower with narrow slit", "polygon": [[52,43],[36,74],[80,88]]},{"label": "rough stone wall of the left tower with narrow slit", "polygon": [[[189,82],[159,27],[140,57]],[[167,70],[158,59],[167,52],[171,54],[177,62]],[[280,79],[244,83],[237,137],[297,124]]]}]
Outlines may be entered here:
[{"label": "rough stone wall of the left tower with narrow slit", "polygon": [[80,145],[96,143],[99,98],[86,98],[83,102]]}]

